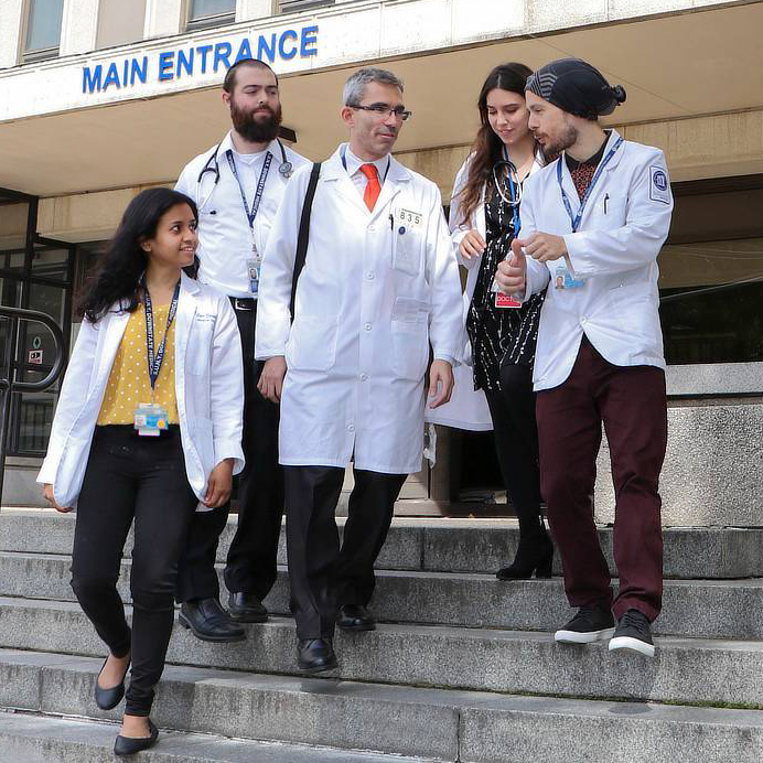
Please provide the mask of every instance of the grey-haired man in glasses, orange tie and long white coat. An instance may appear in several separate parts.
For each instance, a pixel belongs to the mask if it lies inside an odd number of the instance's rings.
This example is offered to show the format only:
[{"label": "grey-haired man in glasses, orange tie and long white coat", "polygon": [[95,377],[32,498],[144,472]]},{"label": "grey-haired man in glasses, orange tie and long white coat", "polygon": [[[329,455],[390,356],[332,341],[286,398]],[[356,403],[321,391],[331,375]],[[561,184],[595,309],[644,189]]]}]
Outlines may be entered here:
[{"label": "grey-haired man in glasses, orange tie and long white coat", "polygon": [[[374,562],[406,475],[421,468],[427,396],[432,408],[450,399],[464,345],[440,192],[389,153],[411,116],[402,83],[361,69],[343,103],[350,142],[321,168],[293,323],[308,168],[287,186],[268,240],[255,345],[266,361],[259,389],[281,404],[292,612],[298,665],[308,673],[336,667],[335,624],[375,627]],[[351,460],[340,549],[334,512]]]}]

